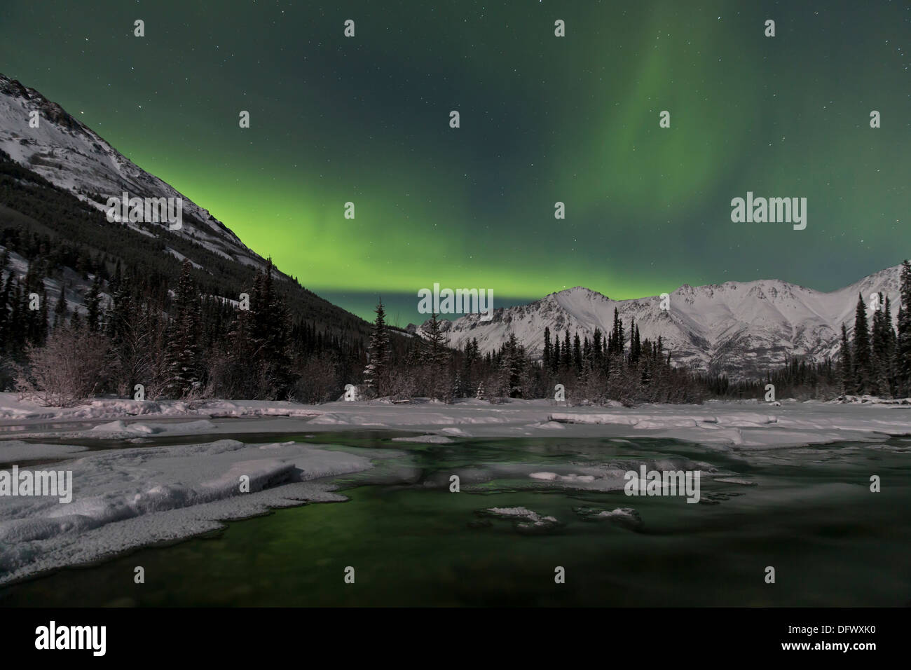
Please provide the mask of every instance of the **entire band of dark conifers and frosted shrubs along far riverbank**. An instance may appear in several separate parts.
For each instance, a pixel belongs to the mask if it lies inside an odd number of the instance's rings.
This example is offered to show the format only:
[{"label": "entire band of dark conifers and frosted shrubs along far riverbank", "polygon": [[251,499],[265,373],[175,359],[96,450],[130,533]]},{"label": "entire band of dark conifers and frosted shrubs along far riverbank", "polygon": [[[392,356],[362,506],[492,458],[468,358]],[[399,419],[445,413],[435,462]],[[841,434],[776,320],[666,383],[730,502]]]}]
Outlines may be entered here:
[{"label": "entire band of dark conifers and frosted shrubs along far riverbank", "polygon": [[[9,251],[2,256],[9,264]],[[0,282],[0,354],[6,386],[71,404],[113,394],[192,400],[201,397],[297,400],[314,403],[357,387],[362,398],[451,402],[477,398],[556,397],[560,385],[572,403],[691,403],[710,397],[829,399],[838,395],[907,397],[911,394],[911,264],[902,267],[897,327],[888,298],[875,309],[858,296],[852,335],[843,326],[836,361],[791,359],[763,378],[730,381],[674,366],[662,339],[640,336],[617,310],[607,334],[589,338],[544,331],[533,359],[515,334],[484,354],[476,339],[451,348],[436,314],[423,334],[403,337],[385,322],[382,301],[369,342],[345,338],[295,318],[276,289],[271,261],[255,273],[244,301],[200,293],[192,263],[184,261],[173,289],[142,281],[119,264],[99,274],[70,309],[66,289],[51,306],[41,263],[19,280],[12,269]],[[102,292],[109,296],[102,300]],[[30,300],[37,296],[35,304]]]}]

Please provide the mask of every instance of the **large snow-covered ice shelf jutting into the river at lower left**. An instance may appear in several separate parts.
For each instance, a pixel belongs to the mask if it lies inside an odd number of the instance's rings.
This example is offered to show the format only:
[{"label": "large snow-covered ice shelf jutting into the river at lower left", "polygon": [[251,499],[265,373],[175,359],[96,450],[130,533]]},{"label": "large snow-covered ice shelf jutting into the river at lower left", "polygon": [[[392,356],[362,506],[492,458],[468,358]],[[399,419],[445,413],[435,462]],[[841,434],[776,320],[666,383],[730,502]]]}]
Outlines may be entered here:
[{"label": "large snow-covered ice shelf jutting into the river at lower left", "polygon": [[0,582],[188,537],[218,528],[219,520],[271,507],[343,500],[329,493],[330,481],[315,480],[368,469],[371,462],[295,442],[258,446],[221,439],[93,451],[65,467],[73,472],[68,504],[0,498]]}]

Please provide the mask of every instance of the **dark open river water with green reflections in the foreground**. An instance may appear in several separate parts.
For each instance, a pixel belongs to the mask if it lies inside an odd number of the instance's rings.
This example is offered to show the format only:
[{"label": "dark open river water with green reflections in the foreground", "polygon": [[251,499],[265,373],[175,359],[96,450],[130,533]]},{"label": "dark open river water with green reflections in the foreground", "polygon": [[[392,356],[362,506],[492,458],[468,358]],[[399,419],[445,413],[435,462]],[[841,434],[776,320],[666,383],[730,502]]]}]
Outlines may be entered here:
[{"label": "dark open river water with green reflections in the foreground", "polygon": [[[0,589],[0,604],[911,604],[907,438],[732,452],[668,439],[423,445],[393,442],[393,435],[282,435],[404,456],[339,479],[347,502],[276,510],[206,536],[46,574]],[[702,469],[701,502],[529,477],[640,463]],[[452,474],[461,478],[459,493],[449,491]],[[882,479],[882,492],[870,492],[871,475]],[[558,522],[523,528],[521,520],[485,514],[490,508],[526,508]],[[586,513],[617,508],[636,510],[640,522],[592,521]],[[145,568],[144,584],[133,582],[137,565]],[[348,566],[353,584],[343,579]],[[557,566],[565,583],[554,581]],[[764,580],[767,566],[775,569],[773,584]]]}]

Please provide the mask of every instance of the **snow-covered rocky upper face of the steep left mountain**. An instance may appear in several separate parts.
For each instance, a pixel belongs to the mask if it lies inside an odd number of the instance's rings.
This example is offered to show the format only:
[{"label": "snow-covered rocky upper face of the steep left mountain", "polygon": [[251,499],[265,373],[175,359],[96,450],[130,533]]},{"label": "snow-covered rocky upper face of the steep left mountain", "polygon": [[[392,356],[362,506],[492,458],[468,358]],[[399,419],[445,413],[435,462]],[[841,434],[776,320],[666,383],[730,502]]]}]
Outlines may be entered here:
[{"label": "snow-covered rocky upper face of the steep left mountain", "polygon": [[[30,112],[37,111],[37,128]],[[253,253],[209,211],[182,196],[158,177],[141,170],[67,111],[34,88],[0,74],[0,149],[16,162],[54,185],[74,193],[79,200],[107,212],[107,198],[180,198],[183,227],[176,234],[198,242],[213,253],[262,267]],[[167,223],[127,223],[137,232],[154,234]],[[149,231],[152,231],[151,233]],[[175,253],[170,250],[171,253]]]}]

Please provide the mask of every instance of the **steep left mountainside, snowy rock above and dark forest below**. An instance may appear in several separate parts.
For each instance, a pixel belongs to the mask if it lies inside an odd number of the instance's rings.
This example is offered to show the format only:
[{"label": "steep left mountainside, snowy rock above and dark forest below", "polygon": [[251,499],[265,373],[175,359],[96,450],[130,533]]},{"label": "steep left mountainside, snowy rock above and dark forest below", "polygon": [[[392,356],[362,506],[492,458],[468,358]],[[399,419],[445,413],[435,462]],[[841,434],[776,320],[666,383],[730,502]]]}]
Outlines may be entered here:
[{"label": "steep left mountainside, snowy rock above and dark forest below", "polygon": [[[38,128],[29,125],[31,111],[38,112]],[[167,223],[157,222],[108,222],[107,197],[120,197],[123,191],[130,197],[181,198],[182,229],[171,231]],[[203,293],[231,300],[249,291],[253,273],[265,266],[209,211],[140,169],[35,89],[0,75],[0,232],[4,229],[62,239],[103,259],[109,272],[119,261],[176,279],[180,262],[189,258]],[[283,273],[275,276],[296,316],[320,330],[355,338],[369,334],[370,325],[360,317]],[[77,293],[84,293],[86,285],[85,280],[77,285]],[[68,298],[78,301],[78,295]]]}]

